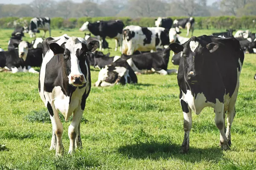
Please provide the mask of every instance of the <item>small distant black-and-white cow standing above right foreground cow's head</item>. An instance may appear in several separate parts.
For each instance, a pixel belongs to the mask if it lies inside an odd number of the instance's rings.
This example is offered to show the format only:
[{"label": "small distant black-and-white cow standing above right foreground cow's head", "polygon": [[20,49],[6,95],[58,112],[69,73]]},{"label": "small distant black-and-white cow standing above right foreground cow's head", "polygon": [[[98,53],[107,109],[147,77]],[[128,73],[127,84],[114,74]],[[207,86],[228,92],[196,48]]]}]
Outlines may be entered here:
[{"label": "small distant black-and-white cow standing above right foreground cow's head", "polygon": [[191,30],[191,36],[193,36],[194,25],[195,25],[195,19],[193,17],[190,17],[190,18],[183,18],[183,19],[174,20],[172,27],[173,28],[180,28],[180,29],[187,28],[186,36],[188,37],[190,30]]}]

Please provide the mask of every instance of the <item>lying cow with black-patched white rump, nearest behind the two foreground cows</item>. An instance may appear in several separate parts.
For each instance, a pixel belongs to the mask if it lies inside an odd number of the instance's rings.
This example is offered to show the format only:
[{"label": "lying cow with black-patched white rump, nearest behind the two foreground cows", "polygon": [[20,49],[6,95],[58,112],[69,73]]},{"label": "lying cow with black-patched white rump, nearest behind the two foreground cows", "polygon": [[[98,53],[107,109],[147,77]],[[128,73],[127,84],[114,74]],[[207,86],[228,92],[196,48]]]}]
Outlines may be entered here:
[{"label": "lying cow with black-patched white rump, nearest behind the two foreground cows", "polygon": [[106,65],[99,71],[99,77],[95,85],[97,87],[106,87],[137,82],[137,76],[130,65],[128,65],[125,59],[120,58],[111,63],[111,65]]}]

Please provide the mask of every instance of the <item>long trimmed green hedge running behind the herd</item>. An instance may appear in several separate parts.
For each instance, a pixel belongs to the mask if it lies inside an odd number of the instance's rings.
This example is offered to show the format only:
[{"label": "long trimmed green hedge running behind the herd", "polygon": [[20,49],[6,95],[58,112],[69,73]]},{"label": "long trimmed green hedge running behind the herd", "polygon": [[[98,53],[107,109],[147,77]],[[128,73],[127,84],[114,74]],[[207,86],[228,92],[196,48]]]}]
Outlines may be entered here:
[{"label": "long trimmed green hedge running behind the herd", "polygon": [[[0,18],[0,28],[13,28],[13,21],[15,20],[27,20],[32,17],[4,17]],[[186,17],[171,17],[173,20]],[[69,18],[65,20],[61,17],[51,18],[51,28],[79,28],[84,22],[96,22],[98,20],[122,20],[125,26],[139,25],[152,27],[154,26],[154,20],[157,17],[143,17],[143,18],[130,18],[130,17],[81,17],[81,18]],[[253,20],[255,22],[253,23]],[[255,29],[256,28],[256,16],[221,16],[221,17],[195,17],[196,29]]]}]

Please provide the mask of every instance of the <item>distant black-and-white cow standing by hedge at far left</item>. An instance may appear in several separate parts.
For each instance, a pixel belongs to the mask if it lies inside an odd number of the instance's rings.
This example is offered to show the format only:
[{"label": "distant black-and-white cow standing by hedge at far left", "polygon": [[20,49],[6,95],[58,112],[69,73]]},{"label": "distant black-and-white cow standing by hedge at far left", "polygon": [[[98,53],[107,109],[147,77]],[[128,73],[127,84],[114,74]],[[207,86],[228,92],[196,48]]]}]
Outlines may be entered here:
[{"label": "distant black-and-white cow standing by hedge at far left", "polygon": [[30,24],[29,24],[29,35],[30,38],[32,37],[36,37],[35,33],[37,33],[39,30],[43,30],[44,31],[44,35],[46,31],[49,31],[49,34],[51,36],[51,20],[49,17],[35,17],[32,18],[30,20]]}]

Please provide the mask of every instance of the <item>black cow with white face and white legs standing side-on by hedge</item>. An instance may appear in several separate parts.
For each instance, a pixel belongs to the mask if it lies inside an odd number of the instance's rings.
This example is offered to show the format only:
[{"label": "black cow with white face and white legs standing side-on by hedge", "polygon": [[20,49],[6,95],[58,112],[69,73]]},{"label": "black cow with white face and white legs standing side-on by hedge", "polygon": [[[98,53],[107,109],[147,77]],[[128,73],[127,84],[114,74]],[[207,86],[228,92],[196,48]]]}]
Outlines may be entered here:
[{"label": "black cow with white face and white legs standing side-on by hedge", "polygon": [[101,40],[104,42],[105,38],[113,38],[116,41],[115,51],[117,51],[117,46],[119,44],[121,51],[122,43],[122,29],[124,28],[124,23],[120,20],[115,21],[97,21],[95,23],[89,23],[86,21],[79,31],[90,31],[93,35],[99,36],[100,47],[99,50],[104,50],[101,45]]}]

